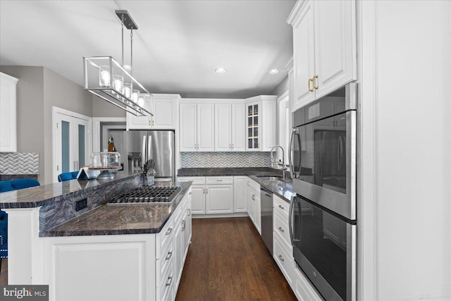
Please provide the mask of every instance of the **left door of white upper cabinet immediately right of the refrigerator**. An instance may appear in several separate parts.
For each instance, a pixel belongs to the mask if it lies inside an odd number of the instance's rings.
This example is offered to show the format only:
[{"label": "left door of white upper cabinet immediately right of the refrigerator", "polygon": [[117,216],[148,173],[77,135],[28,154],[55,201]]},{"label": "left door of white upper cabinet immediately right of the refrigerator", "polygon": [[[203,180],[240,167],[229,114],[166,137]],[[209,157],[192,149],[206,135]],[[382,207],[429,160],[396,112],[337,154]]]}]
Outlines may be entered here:
[{"label": "left door of white upper cabinet immediately right of the refrigerator", "polygon": [[197,106],[180,104],[180,152],[197,150]]}]

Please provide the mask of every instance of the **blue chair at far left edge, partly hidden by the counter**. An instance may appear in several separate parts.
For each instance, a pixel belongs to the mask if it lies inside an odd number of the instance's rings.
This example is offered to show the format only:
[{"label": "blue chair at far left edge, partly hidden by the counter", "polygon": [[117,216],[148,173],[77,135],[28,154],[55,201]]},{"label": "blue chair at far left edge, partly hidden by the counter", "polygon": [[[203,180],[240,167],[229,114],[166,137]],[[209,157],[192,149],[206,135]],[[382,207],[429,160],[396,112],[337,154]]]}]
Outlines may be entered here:
[{"label": "blue chair at far left edge, partly hidden by the counter", "polygon": [[[0,181],[0,192],[18,190],[39,186],[39,182],[33,179],[16,179]],[[8,214],[0,210],[0,270],[1,260],[8,258]]]}]

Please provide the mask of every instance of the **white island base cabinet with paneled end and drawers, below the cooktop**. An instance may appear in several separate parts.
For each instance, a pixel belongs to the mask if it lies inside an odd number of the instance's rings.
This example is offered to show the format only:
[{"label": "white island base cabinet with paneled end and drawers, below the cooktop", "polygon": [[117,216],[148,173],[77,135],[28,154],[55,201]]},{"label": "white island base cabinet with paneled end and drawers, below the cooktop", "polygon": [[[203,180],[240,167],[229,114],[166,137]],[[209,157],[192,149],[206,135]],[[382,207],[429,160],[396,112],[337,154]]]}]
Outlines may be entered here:
[{"label": "white island base cabinet with paneled end and drawers, below the cooktop", "polygon": [[189,190],[160,233],[42,238],[49,300],[175,300],[191,240]]}]

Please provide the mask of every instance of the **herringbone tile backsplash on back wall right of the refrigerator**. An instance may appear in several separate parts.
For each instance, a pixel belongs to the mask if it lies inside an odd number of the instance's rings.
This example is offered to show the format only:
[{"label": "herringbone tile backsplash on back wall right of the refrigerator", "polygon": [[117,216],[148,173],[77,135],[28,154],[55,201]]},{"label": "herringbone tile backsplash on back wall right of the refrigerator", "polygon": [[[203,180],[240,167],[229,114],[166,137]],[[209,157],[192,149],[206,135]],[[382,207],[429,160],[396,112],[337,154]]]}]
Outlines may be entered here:
[{"label": "herringbone tile backsplash on back wall right of the refrigerator", "polygon": [[182,168],[267,167],[270,152],[182,152]]}]

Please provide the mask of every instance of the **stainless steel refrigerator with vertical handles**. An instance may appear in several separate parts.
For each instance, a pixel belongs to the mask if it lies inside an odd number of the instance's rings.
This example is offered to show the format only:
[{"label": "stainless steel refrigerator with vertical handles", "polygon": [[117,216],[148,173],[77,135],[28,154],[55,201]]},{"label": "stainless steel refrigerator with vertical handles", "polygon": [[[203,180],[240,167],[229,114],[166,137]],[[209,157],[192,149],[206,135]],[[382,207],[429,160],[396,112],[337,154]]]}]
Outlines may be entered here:
[{"label": "stainless steel refrigerator with vertical handles", "polygon": [[124,171],[141,172],[154,162],[155,181],[175,181],[175,134],[173,130],[127,130],[124,132]]}]

